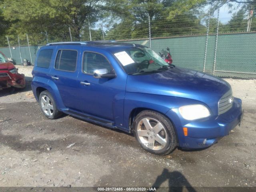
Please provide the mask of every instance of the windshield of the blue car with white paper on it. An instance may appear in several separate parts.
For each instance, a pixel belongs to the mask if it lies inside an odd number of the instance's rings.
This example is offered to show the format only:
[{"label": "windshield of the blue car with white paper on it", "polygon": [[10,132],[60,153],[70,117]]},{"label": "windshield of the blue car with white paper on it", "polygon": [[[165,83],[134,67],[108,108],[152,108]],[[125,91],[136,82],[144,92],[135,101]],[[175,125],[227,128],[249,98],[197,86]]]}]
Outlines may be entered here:
[{"label": "windshield of the blue car with white paper on it", "polygon": [[114,54],[128,74],[162,72],[171,68],[156,52],[134,47]]}]

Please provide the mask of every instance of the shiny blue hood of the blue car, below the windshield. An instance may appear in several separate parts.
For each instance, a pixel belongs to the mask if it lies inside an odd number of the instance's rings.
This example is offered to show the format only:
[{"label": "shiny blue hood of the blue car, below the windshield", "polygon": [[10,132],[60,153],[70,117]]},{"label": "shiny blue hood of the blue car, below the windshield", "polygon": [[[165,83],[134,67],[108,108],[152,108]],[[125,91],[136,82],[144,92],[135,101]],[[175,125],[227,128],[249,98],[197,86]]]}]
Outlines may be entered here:
[{"label": "shiny blue hood of the blue car, below the windshield", "polygon": [[218,110],[218,101],[230,90],[221,78],[185,68],[164,72],[128,75],[126,91],[182,97],[204,102]]}]

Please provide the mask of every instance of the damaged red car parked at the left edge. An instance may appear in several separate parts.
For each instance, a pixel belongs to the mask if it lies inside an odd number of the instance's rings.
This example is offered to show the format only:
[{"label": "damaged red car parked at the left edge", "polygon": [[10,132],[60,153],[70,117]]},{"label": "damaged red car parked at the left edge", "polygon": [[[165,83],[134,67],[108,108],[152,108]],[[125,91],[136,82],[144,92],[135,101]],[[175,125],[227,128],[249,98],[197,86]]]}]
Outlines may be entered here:
[{"label": "damaged red car parked at the left edge", "polygon": [[26,80],[24,74],[19,74],[13,63],[0,52],[0,90],[4,88],[25,88]]}]

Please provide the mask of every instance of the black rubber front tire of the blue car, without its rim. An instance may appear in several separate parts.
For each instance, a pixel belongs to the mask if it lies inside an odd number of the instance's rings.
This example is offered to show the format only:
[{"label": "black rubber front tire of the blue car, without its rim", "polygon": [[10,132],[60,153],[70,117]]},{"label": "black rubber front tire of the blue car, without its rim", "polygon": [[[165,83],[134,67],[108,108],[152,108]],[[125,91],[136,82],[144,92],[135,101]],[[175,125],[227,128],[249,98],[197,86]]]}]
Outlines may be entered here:
[{"label": "black rubber front tire of the blue car, without its rim", "polygon": [[[161,145],[160,145],[159,150],[153,150],[153,149],[148,148],[148,146],[146,146],[145,143],[142,143],[140,137],[138,136],[138,129],[141,126],[142,119],[144,119],[144,118],[152,118],[162,124],[162,127],[165,129],[165,133],[166,133],[166,136],[165,136],[166,144],[162,145],[162,146],[164,146],[163,148],[161,148]],[[140,123],[140,125],[138,126],[139,123]],[[154,121],[153,121],[153,123],[154,123]],[[135,135],[136,139],[138,140],[138,142],[140,143],[142,148],[152,154],[167,155],[167,154],[171,153],[177,147],[176,133],[175,133],[174,127],[172,125],[172,122],[166,116],[164,116],[158,112],[151,111],[151,110],[144,110],[144,111],[140,112],[134,118],[133,131],[134,131],[134,135]],[[146,131],[148,131],[148,130],[146,130]],[[152,132],[150,132],[150,134],[151,133]],[[149,134],[149,136],[150,136],[150,134]],[[154,136],[153,136],[153,138],[154,138]],[[155,141],[154,141],[154,143],[155,143]]]}]

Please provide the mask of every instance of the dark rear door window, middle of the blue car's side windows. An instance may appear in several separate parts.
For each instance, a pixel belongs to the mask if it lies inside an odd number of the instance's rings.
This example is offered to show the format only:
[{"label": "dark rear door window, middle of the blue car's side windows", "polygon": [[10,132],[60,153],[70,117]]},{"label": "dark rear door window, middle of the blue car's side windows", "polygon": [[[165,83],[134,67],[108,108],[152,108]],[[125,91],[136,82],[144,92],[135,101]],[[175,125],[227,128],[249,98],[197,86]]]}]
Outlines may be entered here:
[{"label": "dark rear door window, middle of the blue car's side windows", "polygon": [[77,51],[59,50],[55,62],[55,69],[74,72],[76,70]]}]

